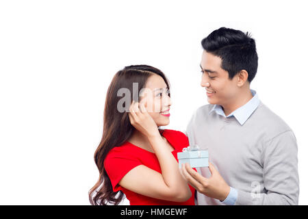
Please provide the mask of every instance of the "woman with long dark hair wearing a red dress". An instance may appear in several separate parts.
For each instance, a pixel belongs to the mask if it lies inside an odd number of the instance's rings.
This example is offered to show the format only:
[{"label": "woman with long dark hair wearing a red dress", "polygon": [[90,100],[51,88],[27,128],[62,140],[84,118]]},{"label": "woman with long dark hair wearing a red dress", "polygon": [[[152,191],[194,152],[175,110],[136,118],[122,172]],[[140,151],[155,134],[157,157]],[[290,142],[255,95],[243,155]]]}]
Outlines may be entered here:
[{"label": "woman with long dark hair wearing a red dress", "polygon": [[[127,66],[112,79],[103,138],[94,153],[100,175],[89,192],[92,205],[118,205],[123,194],[131,205],[194,205],[194,188],[177,160],[188,138],[159,129],[169,124],[169,88],[164,73],[146,65]],[[125,91],[125,97],[119,95]]]}]

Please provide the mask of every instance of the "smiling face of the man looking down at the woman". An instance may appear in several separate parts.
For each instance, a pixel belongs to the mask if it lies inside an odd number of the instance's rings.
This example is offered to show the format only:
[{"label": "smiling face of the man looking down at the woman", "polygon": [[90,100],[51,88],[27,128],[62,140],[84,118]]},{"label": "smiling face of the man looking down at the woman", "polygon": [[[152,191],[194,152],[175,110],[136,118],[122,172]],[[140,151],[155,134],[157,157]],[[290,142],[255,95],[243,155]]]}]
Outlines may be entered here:
[{"label": "smiling face of the man looking down at the woman", "polygon": [[227,70],[221,68],[221,58],[203,51],[201,59],[201,86],[207,90],[207,101],[210,104],[227,105],[238,91],[238,76],[229,79]]}]

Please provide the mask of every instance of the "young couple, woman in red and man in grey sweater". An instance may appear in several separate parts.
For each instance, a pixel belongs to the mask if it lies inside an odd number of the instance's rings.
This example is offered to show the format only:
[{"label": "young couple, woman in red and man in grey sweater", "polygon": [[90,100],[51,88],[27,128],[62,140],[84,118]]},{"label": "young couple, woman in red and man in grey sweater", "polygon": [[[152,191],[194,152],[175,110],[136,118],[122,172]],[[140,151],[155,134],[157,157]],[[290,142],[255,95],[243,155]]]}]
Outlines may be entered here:
[{"label": "young couple, woman in red and man in grey sweater", "polygon": [[[131,205],[298,204],[294,133],[250,89],[255,40],[222,27],[201,44],[209,104],[194,112],[186,134],[160,129],[169,124],[171,106],[162,71],[137,65],[116,73],[94,154],[100,175],[89,192],[92,205],[118,205],[124,194]],[[125,110],[119,90],[131,94]],[[209,151],[208,168],[179,168],[177,153],[193,144]]]}]

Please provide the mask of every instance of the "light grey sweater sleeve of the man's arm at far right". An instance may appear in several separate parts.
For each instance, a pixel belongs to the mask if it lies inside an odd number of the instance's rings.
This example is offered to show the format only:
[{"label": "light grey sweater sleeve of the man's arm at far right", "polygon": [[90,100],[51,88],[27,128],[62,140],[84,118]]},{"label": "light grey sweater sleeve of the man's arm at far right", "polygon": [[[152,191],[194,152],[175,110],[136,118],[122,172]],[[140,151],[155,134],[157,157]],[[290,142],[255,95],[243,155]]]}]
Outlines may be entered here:
[{"label": "light grey sweater sleeve of the man's arm at far right", "polygon": [[298,205],[298,158],[294,133],[285,131],[266,142],[261,161],[266,193],[260,193],[258,182],[253,182],[251,192],[238,190],[235,205]]}]

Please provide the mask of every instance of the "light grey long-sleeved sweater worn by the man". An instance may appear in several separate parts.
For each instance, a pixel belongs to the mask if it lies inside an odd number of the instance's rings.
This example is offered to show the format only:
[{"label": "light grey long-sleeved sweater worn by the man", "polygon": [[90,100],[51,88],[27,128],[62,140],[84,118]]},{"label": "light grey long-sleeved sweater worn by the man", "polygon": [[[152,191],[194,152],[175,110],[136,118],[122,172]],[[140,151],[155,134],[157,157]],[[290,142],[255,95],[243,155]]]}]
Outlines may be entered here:
[{"label": "light grey long-sleeved sweater worn by the man", "polygon": [[[240,125],[233,116],[224,118],[198,108],[186,133],[190,145],[209,151],[214,164],[229,186],[238,190],[235,205],[298,205],[298,158],[294,133],[266,105],[259,106]],[[208,168],[196,168],[204,177]],[[197,205],[224,205],[196,193]]]}]

